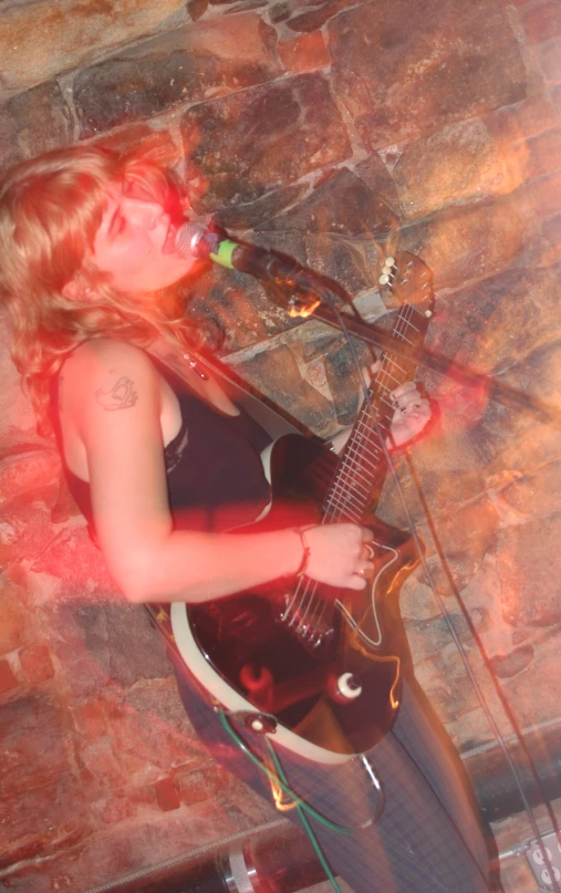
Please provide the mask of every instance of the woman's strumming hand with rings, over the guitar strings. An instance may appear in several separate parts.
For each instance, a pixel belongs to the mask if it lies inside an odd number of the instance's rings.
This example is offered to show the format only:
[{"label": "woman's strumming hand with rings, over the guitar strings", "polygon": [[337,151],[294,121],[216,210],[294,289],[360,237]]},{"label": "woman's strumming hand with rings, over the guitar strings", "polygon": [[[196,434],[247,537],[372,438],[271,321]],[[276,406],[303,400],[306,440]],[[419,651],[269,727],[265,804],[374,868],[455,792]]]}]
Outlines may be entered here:
[{"label": "woman's strumming hand with rings, over the guitar strings", "polygon": [[320,583],[344,589],[364,589],[372,575],[373,533],[351,523],[318,525],[301,531],[309,549],[303,573]]}]

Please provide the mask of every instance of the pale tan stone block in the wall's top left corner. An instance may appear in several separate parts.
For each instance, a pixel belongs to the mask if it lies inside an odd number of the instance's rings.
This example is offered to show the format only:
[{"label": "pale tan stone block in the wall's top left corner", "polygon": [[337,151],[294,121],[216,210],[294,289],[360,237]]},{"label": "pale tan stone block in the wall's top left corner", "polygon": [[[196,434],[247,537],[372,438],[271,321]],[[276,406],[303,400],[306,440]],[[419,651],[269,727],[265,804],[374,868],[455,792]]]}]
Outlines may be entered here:
[{"label": "pale tan stone block in the wall's top left corner", "polygon": [[180,0],[32,0],[2,10],[0,58],[4,90],[27,90],[115,48],[186,21]]}]

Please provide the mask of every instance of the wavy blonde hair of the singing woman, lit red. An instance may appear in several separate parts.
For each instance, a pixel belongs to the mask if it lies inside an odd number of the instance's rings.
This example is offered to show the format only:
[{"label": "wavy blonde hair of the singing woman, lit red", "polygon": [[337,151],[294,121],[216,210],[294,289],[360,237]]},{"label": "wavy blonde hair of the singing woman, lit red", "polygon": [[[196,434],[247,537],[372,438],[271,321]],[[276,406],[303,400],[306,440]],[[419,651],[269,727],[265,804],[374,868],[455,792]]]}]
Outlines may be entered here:
[{"label": "wavy blonde hair of the singing woman, lit red", "polygon": [[[196,341],[177,290],[139,304],[89,261],[106,187],[124,183],[142,185],[163,205],[179,200],[157,165],[93,146],[21,162],[0,179],[0,300],[12,323],[12,359],[42,434],[51,430],[49,381],[81,342],[113,336],[147,346],[163,334],[188,350]],[[83,303],[64,295],[72,280],[83,287]]]}]

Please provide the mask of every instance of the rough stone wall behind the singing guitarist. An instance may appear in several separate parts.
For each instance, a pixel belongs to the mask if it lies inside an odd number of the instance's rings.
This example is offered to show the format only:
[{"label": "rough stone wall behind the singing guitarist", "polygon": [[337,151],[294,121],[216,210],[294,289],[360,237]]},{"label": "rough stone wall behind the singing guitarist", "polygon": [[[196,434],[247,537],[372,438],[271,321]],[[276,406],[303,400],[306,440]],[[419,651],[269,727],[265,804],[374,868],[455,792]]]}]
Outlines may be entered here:
[{"label": "rough stone wall behind the singing guitarist", "polygon": [[[143,146],[186,174],[199,214],[333,277],[371,320],[384,310],[376,238],[395,247],[395,215],[399,247],[434,271],[428,346],[558,408],[560,10],[3,0],[0,164],[84,141]],[[220,355],[301,423],[326,436],[350,420],[356,383],[335,333],[216,269],[190,308],[219,323]],[[271,813],[194,739],[156,633],[118,599],[60,488],[8,340],[3,325],[0,889],[82,891]],[[402,459],[429,569],[501,729],[454,589],[517,720],[554,724],[559,419],[420,377],[439,413],[413,470],[454,586]],[[382,513],[405,526],[394,490]],[[418,677],[468,757],[492,733],[423,571],[402,610]]]}]

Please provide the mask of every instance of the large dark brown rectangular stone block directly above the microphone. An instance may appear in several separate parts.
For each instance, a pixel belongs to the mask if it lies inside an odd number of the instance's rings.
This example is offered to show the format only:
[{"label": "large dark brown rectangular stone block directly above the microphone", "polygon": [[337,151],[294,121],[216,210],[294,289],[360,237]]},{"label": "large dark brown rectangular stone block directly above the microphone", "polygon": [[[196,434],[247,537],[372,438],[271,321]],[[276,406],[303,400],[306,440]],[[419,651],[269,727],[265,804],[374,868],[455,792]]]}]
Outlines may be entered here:
[{"label": "large dark brown rectangular stone block directly above the microphone", "polygon": [[206,184],[197,210],[254,201],[351,155],[343,120],[319,74],[200,103],[183,116],[181,135],[188,176]]}]

